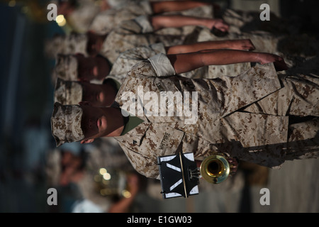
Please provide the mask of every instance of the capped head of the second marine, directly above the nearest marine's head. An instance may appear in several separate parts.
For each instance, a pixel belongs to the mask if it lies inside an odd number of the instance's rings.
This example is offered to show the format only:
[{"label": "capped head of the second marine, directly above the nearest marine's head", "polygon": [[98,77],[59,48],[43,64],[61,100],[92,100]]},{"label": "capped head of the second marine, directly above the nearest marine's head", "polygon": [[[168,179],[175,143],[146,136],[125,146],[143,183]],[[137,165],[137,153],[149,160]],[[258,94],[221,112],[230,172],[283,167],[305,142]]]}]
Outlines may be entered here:
[{"label": "capped head of the second marine, directly above the nearest marine's head", "polygon": [[65,81],[60,78],[55,83],[54,100],[63,105],[89,101],[92,106],[111,106],[115,97],[116,89],[111,84]]}]

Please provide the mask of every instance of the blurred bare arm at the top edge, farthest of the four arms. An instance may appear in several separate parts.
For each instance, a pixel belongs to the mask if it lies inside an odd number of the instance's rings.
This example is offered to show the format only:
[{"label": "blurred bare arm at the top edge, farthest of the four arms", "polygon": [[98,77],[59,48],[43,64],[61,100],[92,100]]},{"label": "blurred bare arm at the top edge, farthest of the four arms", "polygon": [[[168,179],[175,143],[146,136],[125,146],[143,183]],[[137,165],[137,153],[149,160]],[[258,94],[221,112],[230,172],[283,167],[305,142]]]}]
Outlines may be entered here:
[{"label": "blurred bare arm at the top edge, farthest of the four arms", "polygon": [[200,1],[153,1],[150,2],[154,13],[171,11],[184,11],[198,6],[210,6],[211,4]]}]

